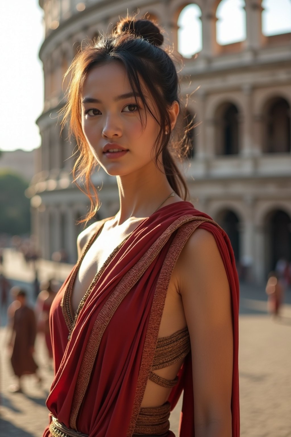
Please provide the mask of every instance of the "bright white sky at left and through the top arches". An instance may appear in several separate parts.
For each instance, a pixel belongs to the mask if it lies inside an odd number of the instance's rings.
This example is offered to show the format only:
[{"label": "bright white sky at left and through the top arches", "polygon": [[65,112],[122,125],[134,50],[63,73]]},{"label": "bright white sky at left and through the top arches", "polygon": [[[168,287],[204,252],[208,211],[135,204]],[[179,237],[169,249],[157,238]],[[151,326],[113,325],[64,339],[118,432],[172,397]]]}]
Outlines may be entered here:
[{"label": "bright white sky at left and through the top arches", "polygon": [[[219,5],[217,39],[220,44],[245,38],[243,5],[243,0],[224,0]],[[262,6],[269,11],[263,12],[264,34],[291,31],[291,0],[263,0]],[[43,71],[38,59],[44,37],[43,13],[38,0],[3,1],[1,13],[0,149],[31,150],[41,143],[35,120],[43,108]],[[185,57],[201,50],[200,15],[195,5],[186,7],[180,15],[179,50]]]}]

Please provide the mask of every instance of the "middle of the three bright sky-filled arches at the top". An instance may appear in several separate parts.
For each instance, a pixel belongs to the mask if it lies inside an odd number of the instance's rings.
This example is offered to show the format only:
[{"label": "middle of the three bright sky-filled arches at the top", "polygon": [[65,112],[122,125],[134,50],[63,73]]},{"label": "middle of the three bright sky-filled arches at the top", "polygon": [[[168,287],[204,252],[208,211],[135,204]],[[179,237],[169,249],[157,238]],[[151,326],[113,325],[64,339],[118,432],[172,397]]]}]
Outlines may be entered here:
[{"label": "middle of the three bright sky-filled arches at the top", "polygon": [[246,11],[243,0],[222,0],[216,10],[216,42],[233,44],[246,39]]}]

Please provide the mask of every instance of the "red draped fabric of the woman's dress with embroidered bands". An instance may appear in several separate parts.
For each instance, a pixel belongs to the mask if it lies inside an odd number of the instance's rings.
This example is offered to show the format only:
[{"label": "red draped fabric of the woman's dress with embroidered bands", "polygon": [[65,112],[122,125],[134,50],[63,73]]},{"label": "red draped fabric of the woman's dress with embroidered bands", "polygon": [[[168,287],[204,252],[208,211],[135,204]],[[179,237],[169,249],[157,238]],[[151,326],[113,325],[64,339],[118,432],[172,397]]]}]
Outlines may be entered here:
[{"label": "red draped fabric of the woman's dress with embroidered bands", "polygon": [[[47,406],[66,427],[89,437],[132,436],[171,273],[198,226],[215,237],[231,290],[232,422],[233,437],[239,437],[239,287],[233,251],[225,232],[189,202],[160,208],[112,254],[92,283],[70,336],[64,302],[74,269],[58,291],[50,313],[55,379]],[[189,354],[169,398],[174,408],[184,390],[180,437],[195,435],[192,387]],[[50,435],[47,428],[43,437]]]}]

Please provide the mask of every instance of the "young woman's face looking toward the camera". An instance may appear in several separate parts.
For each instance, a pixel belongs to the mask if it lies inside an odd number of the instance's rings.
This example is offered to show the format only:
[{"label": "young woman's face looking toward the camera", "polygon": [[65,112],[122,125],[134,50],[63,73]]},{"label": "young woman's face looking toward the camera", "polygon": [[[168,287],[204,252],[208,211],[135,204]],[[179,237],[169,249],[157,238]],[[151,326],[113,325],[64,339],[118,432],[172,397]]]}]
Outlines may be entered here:
[{"label": "young woman's face looking toward the camera", "polygon": [[[149,94],[149,93],[146,93]],[[147,98],[147,95],[145,96]],[[154,164],[159,125],[134,99],[124,67],[116,61],[97,66],[82,89],[82,129],[98,163],[112,176],[124,176]],[[156,114],[149,100],[151,111]],[[142,124],[141,118],[146,125]]]}]

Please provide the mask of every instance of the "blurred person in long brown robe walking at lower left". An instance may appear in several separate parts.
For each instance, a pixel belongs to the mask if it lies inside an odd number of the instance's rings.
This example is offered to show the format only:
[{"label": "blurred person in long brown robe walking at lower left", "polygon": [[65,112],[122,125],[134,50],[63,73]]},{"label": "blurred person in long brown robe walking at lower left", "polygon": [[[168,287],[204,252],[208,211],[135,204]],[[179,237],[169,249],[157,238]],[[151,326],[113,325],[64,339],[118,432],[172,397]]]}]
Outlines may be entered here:
[{"label": "blurred person in long brown robe walking at lower left", "polygon": [[22,392],[22,376],[35,374],[38,382],[38,365],[34,361],[34,341],[36,320],[34,310],[27,306],[26,292],[19,289],[16,294],[18,308],[14,312],[11,338],[8,346],[12,349],[11,364],[18,384],[10,387],[13,392]]}]

